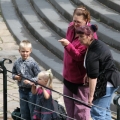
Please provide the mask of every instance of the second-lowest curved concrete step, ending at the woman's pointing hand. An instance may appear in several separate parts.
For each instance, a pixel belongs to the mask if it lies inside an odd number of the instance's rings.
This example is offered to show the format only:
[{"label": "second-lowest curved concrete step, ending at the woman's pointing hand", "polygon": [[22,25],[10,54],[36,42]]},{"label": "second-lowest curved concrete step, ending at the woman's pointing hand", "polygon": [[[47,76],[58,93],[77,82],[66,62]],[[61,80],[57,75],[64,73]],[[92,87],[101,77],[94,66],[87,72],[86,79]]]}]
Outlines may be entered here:
[{"label": "second-lowest curved concrete step, ending at the woman's pointing hand", "polygon": [[63,59],[64,48],[58,42],[61,37],[50,29],[33,10],[28,0],[13,0],[15,8],[31,34],[48,50]]}]

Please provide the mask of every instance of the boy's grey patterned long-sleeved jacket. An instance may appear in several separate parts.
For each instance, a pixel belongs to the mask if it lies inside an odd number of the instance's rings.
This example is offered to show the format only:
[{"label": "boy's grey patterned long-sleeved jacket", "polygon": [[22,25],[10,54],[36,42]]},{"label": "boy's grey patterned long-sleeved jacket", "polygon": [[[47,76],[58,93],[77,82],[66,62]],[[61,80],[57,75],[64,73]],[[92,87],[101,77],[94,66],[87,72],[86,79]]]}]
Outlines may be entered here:
[{"label": "boy's grey patterned long-sleeved jacket", "polygon": [[[32,81],[37,81],[37,75],[40,72],[40,68],[37,64],[37,62],[32,58],[29,57],[27,60],[22,60],[22,58],[20,57],[19,59],[17,59],[13,65],[13,69],[12,69],[12,77],[14,79],[15,75],[21,75],[25,78],[28,78]],[[23,83],[25,79],[22,78],[22,80],[20,82],[18,82],[18,86],[19,87],[27,87],[30,88],[30,85],[25,85]]]}]

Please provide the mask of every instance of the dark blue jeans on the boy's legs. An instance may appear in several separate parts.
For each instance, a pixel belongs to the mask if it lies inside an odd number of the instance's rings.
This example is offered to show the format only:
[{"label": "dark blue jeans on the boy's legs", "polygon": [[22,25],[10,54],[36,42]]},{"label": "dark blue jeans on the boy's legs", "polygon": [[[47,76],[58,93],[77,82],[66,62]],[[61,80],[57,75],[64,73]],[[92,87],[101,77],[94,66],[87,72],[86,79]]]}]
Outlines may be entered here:
[{"label": "dark blue jeans on the boy's legs", "polygon": [[[21,118],[26,119],[26,120],[31,120],[31,115],[30,115],[30,110],[29,110],[29,103],[26,102],[29,100],[29,92],[24,91],[22,89],[19,89],[19,96],[20,96],[20,113],[21,113]],[[26,101],[23,101],[23,100]]]}]

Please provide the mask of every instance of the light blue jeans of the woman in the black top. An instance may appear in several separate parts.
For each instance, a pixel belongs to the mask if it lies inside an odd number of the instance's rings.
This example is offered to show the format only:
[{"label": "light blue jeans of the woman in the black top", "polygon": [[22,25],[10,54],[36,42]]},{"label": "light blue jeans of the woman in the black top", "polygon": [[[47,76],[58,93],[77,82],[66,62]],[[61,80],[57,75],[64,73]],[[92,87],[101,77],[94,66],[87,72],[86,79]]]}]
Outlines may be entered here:
[{"label": "light blue jeans of the woman in the black top", "polygon": [[111,120],[111,112],[108,110],[110,110],[112,94],[114,93],[115,90],[116,88],[114,87],[107,87],[106,95],[103,96],[102,98],[99,98],[93,101],[94,105],[105,108],[105,109],[101,109],[101,108],[92,106],[91,117],[93,120]]}]

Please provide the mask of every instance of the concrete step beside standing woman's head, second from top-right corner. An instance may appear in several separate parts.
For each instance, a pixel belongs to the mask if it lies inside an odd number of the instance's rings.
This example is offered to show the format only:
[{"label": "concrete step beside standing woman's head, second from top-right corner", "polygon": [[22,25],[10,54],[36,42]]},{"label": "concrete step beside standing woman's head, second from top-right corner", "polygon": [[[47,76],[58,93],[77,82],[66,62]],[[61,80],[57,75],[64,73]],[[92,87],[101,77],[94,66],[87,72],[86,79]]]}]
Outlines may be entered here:
[{"label": "concrete step beside standing woman's head, second from top-right corner", "polygon": [[77,5],[85,5],[91,15],[112,28],[120,31],[120,14],[103,6],[96,0],[72,0]]}]

